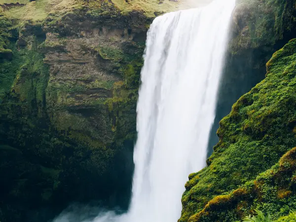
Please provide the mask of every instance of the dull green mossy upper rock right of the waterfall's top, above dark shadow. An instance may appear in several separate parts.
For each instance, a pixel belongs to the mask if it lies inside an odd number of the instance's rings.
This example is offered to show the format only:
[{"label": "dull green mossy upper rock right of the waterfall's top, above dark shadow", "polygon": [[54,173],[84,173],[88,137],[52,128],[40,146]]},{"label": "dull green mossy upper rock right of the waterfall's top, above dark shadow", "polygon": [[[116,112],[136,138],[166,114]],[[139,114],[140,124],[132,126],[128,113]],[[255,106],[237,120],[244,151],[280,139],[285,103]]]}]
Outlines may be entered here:
[{"label": "dull green mossy upper rock right of the waterfall's top, above dark shadow", "polygon": [[270,50],[278,40],[295,30],[295,0],[239,0],[235,9],[235,25],[239,33],[231,40],[232,53],[243,49]]}]

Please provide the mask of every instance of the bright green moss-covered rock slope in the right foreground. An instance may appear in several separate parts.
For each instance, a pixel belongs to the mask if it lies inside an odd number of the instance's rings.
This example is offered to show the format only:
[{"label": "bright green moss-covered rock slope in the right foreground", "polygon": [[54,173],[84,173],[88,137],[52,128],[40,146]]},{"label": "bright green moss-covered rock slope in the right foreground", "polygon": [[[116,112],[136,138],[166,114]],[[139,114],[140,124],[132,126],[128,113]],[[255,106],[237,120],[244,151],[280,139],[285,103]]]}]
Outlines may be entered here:
[{"label": "bright green moss-covered rock slope in the right foreground", "polygon": [[266,78],[221,120],[220,141],[208,166],[191,174],[185,185],[180,222],[234,222],[256,207],[276,219],[283,209],[296,208],[295,149],[276,164],[296,145],[295,52],[293,39],[274,53]]}]

